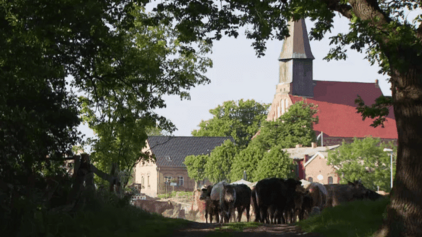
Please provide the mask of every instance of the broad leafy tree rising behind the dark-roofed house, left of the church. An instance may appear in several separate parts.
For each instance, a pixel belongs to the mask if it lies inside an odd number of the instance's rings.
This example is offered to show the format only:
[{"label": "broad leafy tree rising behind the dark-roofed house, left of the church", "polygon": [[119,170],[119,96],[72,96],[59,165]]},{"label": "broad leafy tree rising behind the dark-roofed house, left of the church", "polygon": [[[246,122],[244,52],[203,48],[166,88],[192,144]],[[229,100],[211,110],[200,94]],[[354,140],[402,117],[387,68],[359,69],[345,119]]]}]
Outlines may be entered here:
[{"label": "broad leafy tree rising behind the dark-roofed house, left of the church", "polygon": [[252,136],[258,132],[261,121],[266,118],[269,104],[261,104],[255,100],[243,99],[239,101],[226,101],[223,105],[211,109],[213,118],[201,121],[198,130],[193,130],[192,135],[200,136],[231,136],[236,145],[244,148]]}]

